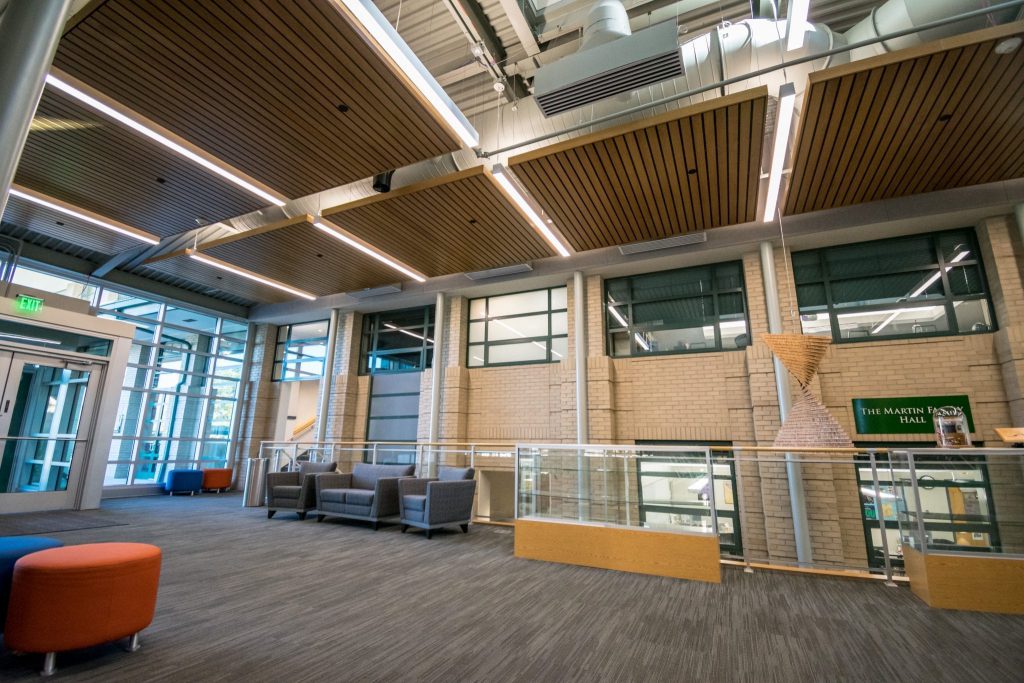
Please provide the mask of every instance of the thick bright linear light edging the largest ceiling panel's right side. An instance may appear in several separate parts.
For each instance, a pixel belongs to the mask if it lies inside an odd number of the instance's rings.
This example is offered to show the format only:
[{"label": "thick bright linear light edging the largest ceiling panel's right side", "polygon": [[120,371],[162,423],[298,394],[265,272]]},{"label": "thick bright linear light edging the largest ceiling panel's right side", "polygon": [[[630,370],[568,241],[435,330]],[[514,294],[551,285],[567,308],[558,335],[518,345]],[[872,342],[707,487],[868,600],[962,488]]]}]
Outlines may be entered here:
[{"label": "thick bright linear light edging the largest ceiling panel's right side", "polygon": [[334,0],[334,2],[347,10],[358,24],[358,28],[374,39],[380,51],[394,62],[463,144],[468,147],[479,145],[480,134],[470,125],[444,89],[371,0]]}]

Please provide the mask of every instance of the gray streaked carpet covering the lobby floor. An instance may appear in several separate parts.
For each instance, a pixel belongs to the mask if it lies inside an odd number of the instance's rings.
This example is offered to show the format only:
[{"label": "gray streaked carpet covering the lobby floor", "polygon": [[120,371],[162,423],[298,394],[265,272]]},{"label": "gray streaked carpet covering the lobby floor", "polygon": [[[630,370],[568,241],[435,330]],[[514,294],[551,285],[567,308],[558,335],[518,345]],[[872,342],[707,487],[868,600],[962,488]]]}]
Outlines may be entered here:
[{"label": "gray streaked carpet covering the lobby floor", "polygon": [[[142,649],[74,681],[1017,681],[1024,617],[930,609],[881,582],[723,570],[719,586],[520,560],[512,531],[373,531],[238,496],[113,501],[66,543],[164,549]],[[0,680],[41,657],[0,653]]]}]

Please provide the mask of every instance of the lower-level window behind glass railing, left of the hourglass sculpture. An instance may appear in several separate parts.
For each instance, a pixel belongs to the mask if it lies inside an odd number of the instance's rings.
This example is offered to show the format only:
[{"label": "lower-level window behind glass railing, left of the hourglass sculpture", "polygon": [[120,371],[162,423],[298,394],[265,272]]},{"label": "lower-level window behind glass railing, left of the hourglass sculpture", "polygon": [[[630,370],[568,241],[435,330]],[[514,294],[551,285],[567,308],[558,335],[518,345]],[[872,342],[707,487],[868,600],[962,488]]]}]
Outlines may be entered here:
[{"label": "lower-level window behind glass railing, left of the hourglass sculpture", "polygon": [[[637,441],[637,445],[718,445],[731,441]],[[649,528],[701,531],[711,526],[711,487],[714,485],[715,513],[718,518],[719,545],[726,555],[743,553],[739,528],[739,505],[736,501],[735,462],[713,454],[712,481],[702,455],[687,458],[687,453],[664,451],[641,453],[638,461],[638,502],[640,521]],[[683,462],[680,462],[680,461]]]}]

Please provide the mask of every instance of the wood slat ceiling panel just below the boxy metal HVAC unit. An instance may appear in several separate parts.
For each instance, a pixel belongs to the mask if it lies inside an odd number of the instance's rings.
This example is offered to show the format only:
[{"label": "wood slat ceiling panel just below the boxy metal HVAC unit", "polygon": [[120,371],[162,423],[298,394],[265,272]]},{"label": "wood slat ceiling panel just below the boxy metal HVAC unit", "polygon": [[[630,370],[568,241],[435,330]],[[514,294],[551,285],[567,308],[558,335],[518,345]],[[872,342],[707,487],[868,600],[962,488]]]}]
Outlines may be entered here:
[{"label": "wood slat ceiling panel just below the boxy metal HVAC unit", "polygon": [[513,157],[577,251],[755,219],[766,88]]}]

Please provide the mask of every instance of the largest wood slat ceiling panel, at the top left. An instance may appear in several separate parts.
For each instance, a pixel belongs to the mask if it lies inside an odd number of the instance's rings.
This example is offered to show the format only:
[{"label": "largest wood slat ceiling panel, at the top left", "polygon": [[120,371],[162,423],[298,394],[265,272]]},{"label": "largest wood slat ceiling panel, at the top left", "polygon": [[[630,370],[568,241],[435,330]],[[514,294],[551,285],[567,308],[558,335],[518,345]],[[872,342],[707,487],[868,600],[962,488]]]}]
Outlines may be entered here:
[{"label": "largest wood slat ceiling panel, at the top left", "polygon": [[106,0],[54,65],[289,197],[460,146],[331,0]]}]

